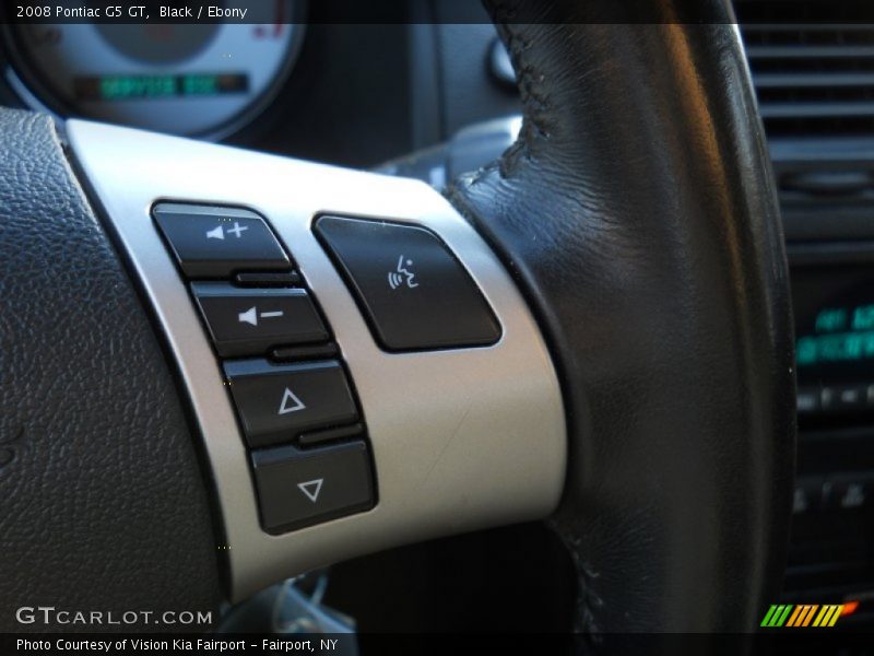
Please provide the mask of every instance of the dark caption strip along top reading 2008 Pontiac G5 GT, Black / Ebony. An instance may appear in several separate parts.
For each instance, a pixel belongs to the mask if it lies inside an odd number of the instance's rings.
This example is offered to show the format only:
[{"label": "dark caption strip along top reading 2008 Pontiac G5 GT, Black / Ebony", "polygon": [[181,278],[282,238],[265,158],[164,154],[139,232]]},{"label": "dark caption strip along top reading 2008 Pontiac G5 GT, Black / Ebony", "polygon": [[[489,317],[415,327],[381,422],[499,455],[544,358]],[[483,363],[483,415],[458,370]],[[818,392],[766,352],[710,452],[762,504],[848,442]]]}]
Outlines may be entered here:
[{"label": "dark caption strip along top reading 2008 Pontiac G5 GT, Black / Ebony", "polygon": [[[504,2],[499,21],[506,23],[552,23],[553,16],[567,15],[562,4],[581,4],[586,23],[708,23],[713,2],[719,0],[542,0]],[[669,5],[670,11],[664,7]],[[871,0],[735,0],[741,23],[872,24]],[[485,23],[488,14],[476,0],[2,0],[0,23],[121,23],[187,24],[236,23],[272,24],[303,21],[312,24],[390,23]],[[161,8],[173,8],[163,15]],[[44,15],[40,8],[47,8]],[[59,11],[60,8],[60,11]],[[108,10],[108,8],[118,8]],[[139,8],[143,8],[140,10]],[[222,11],[210,15],[210,8]],[[92,10],[91,13],[85,9]],[[95,14],[96,12],[96,14]],[[107,15],[109,14],[109,15]],[[118,15],[116,15],[118,14]],[[577,15],[580,15],[579,12]],[[665,16],[670,16],[666,20]]]}]

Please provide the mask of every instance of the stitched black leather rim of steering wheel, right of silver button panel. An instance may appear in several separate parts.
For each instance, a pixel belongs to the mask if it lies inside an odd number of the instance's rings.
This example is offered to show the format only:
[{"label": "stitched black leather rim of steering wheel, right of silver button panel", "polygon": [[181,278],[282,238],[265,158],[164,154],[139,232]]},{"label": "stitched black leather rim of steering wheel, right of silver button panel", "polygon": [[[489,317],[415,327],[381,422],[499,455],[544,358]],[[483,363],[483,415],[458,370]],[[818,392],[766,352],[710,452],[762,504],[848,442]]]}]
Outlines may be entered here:
[{"label": "stitched black leather rim of steering wheel, right of silver button panel", "polygon": [[[778,595],[794,467],[788,269],[730,3],[658,24],[552,3],[501,22],[524,122],[449,198],[503,255],[559,368],[570,441],[551,525],[576,629],[749,632]],[[606,8],[607,12],[610,8]],[[532,14],[533,15],[533,14]]]}]

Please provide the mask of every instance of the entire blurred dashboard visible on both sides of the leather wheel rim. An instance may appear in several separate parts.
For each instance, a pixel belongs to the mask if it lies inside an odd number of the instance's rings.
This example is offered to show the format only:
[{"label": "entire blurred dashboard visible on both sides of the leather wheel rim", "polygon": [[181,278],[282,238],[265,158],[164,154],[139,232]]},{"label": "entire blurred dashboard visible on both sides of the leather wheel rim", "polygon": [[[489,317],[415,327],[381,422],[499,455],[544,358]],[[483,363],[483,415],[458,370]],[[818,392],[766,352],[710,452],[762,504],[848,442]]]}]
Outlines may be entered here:
[{"label": "entire blurred dashboard visible on both sides of the leather wheel rim", "polygon": [[[768,0],[744,24],[745,4],[739,16],[783,211],[798,338],[786,600],[852,602],[846,621],[871,626],[874,25],[790,24],[786,3]],[[440,186],[508,145],[519,101],[481,10],[445,24],[439,3],[427,5],[422,20],[388,25],[322,23],[312,3],[305,27],[287,17],[299,3],[279,1],[255,25],[8,27],[0,104],[383,165]]]}]

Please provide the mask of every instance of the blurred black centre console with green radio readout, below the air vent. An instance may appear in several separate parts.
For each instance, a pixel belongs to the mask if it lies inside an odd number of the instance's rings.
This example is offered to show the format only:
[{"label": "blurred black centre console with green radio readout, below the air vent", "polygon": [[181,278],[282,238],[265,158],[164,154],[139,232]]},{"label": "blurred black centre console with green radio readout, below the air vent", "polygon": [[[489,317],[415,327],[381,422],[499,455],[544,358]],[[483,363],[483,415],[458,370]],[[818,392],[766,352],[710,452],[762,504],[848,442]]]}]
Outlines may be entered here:
[{"label": "blurred black centre console with green radio readout, below the air vent", "polygon": [[[798,461],[786,598],[874,609],[874,266],[791,269]],[[861,607],[860,607],[861,608]]]}]

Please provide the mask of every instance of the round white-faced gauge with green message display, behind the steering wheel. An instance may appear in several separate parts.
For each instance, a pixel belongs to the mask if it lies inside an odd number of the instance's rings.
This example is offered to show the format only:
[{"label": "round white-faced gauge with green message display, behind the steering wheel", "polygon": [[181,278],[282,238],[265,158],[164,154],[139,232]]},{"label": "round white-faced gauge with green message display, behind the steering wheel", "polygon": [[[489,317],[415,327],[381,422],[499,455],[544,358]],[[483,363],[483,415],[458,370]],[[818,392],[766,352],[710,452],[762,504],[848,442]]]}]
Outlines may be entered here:
[{"label": "round white-faced gauge with green message display, behind the steering wheel", "polygon": [[292,0],[268,24],[13,25],[9,74],[26,102],[176,134],[218,138],[253,118],[282,84],[303,24]]}]

